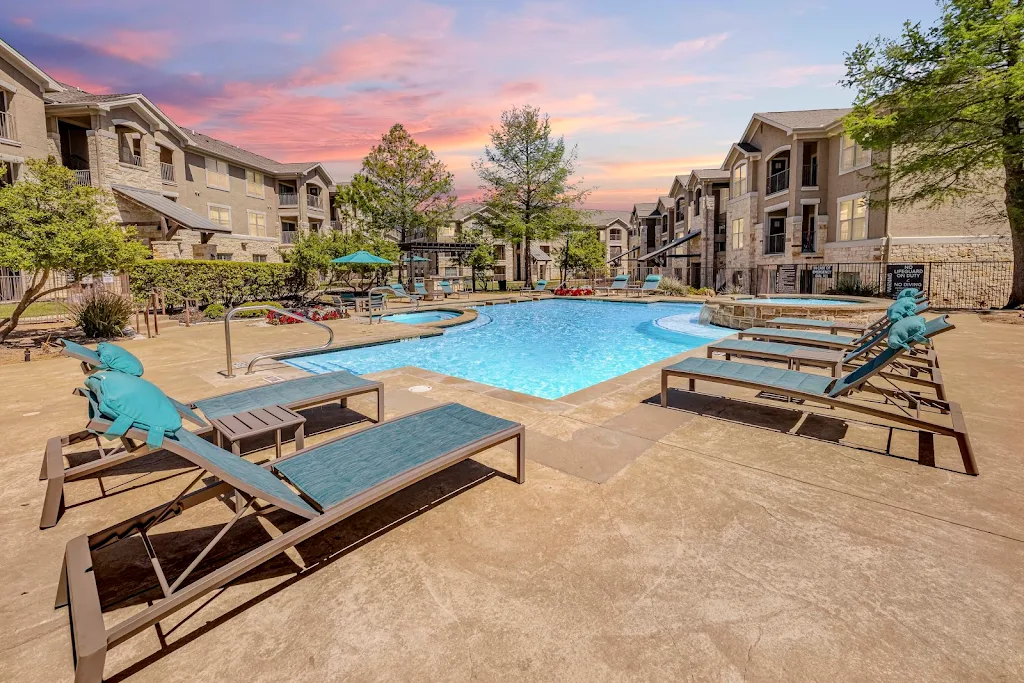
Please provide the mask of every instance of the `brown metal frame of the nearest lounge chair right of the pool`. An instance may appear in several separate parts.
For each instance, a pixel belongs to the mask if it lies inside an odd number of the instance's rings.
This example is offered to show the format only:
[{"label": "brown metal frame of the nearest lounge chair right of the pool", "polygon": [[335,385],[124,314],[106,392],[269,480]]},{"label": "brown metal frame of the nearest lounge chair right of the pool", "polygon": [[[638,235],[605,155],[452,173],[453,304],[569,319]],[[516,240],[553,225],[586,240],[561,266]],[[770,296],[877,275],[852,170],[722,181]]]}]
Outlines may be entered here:
[{"label": "brown metal frame of the nearest lounge chair right of the pool", "polygon": [[[897,353],[894,357],[899,357],[903,353],[902,351]],[[948,401],[938,398],[928,398],[925,396],[920,396],[916,394],[909,393],[905,389],[893,384],[891,381],[890,387],[881,387],[870,383],[871,378],[883,378],[885,376],[880,373],[873,373],[867,375],[860,379],[859,382],[851,384],[839,396],[828,396],[817,393],[810,393],[805,391],[798,391],[794,389],[786,389],[783,387],[768,386],[760,382],[753,382],[749,380],[742,380],[738,378],[722,378],[715,377],[712,375],[706,375],[697,372],[676,370],[672,367],[664,368],[662,370],[662,407],[668,408],[669,405],[669,380],[673,377],[680,377],[688,381],[687,390],[696,393],[696,381],[707,381],[716,384],[727,384],[730,386],[742,387],[745,389],[758,389],[769,391],[776,395],[781,395],[791,399],[798,399],[810,402],[816,402],[824,404],[828,408],[840,408],[843,410],[851,411],[853,413],[859,413],[861,415],[866,415],[872,418],[879,418],[883,420],[890,420],[892,422],[913,427],[918,430],[918,453],[919,458],[924,460],[930,457],[935,452],[935,434],[941,436],[951,436],[956,439],[956,444],[959,447],[961,459],[964,461],[964,469],[968,474],[977,476],[978,465],[975,461],[974,451],[971,446],[971,439],[968,437],[967,433],[967,423],[964,420],[964,412],[959,407],[959,403],[953,401]],[[868,391],[871,393],[880,394],[884,398],[884,403],[888,403],[896,408],[896,412],[883,410],[873,405],[868,405],[865,403],[855,402],[848,398],[855,390]],[[897,399],[902,400],[906,403],[906,408],[897,402]],[[932,422],[930,420],[925,420],[921,417],[921,408],[934,408],[939,410],[941,413],[948,414],[952,426],[946,426],[940,423]],[[911,413],[912,411],[912,413]]]}]

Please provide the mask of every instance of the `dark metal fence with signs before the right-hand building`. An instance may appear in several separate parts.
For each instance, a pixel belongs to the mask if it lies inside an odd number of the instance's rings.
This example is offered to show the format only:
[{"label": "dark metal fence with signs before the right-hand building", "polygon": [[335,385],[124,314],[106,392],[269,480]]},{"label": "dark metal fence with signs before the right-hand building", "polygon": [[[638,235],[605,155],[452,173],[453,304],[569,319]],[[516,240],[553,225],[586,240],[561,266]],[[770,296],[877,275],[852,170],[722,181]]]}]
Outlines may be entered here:
[{"label": "dark metal fence with signs before the right-hand building", "polygon": [[894,297],[904,287],[928,293],[936,308],[1000,308],[1010,299],[1012,261],[931,261],[925,263],[815,263],[753,268],[675,265],[640,267],[643,279],[656,272],[720,294],[847,294]]}]

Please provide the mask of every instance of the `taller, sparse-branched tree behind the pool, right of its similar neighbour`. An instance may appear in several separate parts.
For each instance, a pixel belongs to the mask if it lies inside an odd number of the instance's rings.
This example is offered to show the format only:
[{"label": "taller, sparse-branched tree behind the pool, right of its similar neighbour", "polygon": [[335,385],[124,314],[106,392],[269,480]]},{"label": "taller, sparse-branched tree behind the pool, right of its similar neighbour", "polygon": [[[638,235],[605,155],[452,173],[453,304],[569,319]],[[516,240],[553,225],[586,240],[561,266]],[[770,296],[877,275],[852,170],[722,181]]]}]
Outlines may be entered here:
[{"label": "taller, sparse-branched tree behind the pool, right of its similar neighbour", "polygon": [[[495,237],[522,245],[528,259],[530,243],[558,237],[564,210],[582,204],[590,191],[571,179],[575,161],[577,148],[567,151],[563,138],[552,137],[548,116],[540,110],[527,105],[503,112],[483,158],[473,164],[493,211],[481,222]],[[532,284],[529,268],[525,280]]]}]

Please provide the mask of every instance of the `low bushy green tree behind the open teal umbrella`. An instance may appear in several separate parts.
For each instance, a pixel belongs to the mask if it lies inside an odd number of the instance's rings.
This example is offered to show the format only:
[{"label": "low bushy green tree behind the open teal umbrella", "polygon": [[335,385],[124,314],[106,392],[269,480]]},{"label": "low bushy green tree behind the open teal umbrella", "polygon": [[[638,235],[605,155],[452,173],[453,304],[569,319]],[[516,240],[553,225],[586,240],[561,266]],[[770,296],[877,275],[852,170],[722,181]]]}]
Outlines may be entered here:
[{"label": "low bushy green tree behind the open teal umbrella", "polygon": [[335,286],[355,289],[368,275],[376,279],[381,272],[386,272],[382,266],[331,262],[332,259],[360,249],[395,263],[400,256],[398,245],[371,231],[330,230],[326,233],[306,232],[299,236],[286,254],[292,265],[294,287],[302,292],[305,299],[310,298],[310,294],[314,292],[318,295]]}]

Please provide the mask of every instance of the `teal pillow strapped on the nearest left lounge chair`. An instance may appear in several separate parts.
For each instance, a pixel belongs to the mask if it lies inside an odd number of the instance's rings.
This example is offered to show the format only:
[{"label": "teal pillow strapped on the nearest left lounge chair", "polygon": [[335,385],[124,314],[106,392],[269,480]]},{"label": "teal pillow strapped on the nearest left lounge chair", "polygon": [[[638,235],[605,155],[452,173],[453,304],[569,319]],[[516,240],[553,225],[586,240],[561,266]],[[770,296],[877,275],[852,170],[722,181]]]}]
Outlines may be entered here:
[{"label": "teal pillow strapped on the nearest left lounge chair", "polygon": [[151,447],[163,443],[165,435],[181,429],[181,416],[171,399],[155,384],[134,375],[103,371],[85,378],[95,410],[114,424],[109,438],[123,436],[132,427],[147,432]]}]

